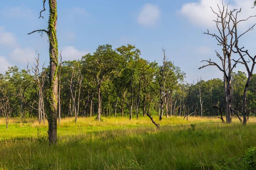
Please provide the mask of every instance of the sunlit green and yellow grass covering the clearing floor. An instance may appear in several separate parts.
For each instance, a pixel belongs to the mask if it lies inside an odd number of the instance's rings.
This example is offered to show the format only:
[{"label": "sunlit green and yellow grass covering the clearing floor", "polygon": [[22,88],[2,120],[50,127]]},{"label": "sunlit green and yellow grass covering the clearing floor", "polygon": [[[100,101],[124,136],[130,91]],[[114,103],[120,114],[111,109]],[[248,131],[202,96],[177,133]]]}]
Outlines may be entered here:
[{"label": "sunlit green and yellow grass covering the clearing floor", "polygon": [[[154,116],[156,122],[157,116]],[[47,122],[0,119],[0,170],[235,170],[256,169],[256,118],[168,118],[160,130],[148,117],[63,118],[58,144]]]}]

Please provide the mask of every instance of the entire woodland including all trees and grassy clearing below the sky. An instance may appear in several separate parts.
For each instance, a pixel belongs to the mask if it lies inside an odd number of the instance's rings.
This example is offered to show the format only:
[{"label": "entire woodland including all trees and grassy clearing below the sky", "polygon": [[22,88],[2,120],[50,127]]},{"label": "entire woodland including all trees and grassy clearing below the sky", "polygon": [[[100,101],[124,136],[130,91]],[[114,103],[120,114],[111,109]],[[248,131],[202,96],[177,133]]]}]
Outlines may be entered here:
[{"label": "entire woodland including all trees and grassy clearing below the sky", "polygon": [[36,51],[0,74],[0,170],[256,168],[256,55],[239,41],[255,34],[256,24],[239,26],[256,15],[239,20],[223,1],[212,9],[217,31],[204,34],[219,49],[198,69],[223,77],[187,82],[165,47],[161,63],[133,44],[63,60],[56,0],[43,0],[39,18],[47,2],[47,29],[28,36],[48,37],[49,65]]}]

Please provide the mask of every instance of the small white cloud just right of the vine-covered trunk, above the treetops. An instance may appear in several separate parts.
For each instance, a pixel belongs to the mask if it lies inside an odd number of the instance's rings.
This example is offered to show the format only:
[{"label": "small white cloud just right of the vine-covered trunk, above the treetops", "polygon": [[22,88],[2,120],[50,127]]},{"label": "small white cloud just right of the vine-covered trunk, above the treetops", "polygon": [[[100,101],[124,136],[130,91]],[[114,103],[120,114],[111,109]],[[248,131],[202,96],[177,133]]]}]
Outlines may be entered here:
[{"label": "small white cloud just right of the vine-covered trunk, above the treetops", "polygon": [[61,56],[63,61],[81,59],[81,57],[86,54],[88,54],[88,51],[79,51],[73,46],[66,46],[63,50],[61,50]]}]

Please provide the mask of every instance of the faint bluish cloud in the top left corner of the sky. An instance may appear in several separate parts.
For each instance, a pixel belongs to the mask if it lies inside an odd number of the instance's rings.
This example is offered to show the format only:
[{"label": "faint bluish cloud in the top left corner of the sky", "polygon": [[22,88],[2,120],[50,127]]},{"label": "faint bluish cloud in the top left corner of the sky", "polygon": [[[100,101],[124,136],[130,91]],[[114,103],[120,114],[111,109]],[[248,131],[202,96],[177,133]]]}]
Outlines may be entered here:
[{"label": "faint bluish cloud in the top left corner of the sky", "polygon": [[33,15],[33,11],[24,6],[4,7],[0,14],[3,17],[27,18]]}]

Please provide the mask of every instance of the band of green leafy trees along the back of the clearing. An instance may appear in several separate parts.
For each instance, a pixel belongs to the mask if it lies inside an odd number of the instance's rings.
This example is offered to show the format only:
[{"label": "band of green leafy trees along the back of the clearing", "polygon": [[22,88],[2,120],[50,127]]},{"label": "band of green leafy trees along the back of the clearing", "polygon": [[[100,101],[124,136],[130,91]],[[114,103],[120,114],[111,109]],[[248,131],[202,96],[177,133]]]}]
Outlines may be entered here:
[{"label": "band of green leafy trees along the back of the clearing", "polygon": [[[222,116],[225,114],[225,90],[222,79],[196,83],[184,81],[185,73],[168,61],[163,49],[163,63],[140,57],[133,45],[113,49],[100,45],[93,54],[60,62],[58,67],[58,121],[61,117],[128,116]],[[49,67],[35,64],[26,70],[10,67],[0,75],[0,115],[2,117],[38,117],[45,123],[49,112]],[[232,73],[232,108],[242,112],[247,74]],[[256,76],[248,90],[247,110],[256,113]],[[223,115],[222,115],[223,114]],[[233,113],[234,114],[234,113]],[[8,123],[8,122],[7,122]]]}]

